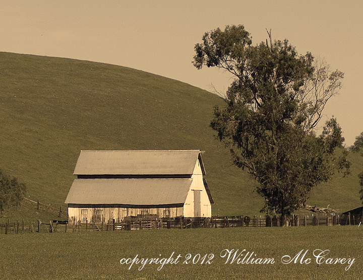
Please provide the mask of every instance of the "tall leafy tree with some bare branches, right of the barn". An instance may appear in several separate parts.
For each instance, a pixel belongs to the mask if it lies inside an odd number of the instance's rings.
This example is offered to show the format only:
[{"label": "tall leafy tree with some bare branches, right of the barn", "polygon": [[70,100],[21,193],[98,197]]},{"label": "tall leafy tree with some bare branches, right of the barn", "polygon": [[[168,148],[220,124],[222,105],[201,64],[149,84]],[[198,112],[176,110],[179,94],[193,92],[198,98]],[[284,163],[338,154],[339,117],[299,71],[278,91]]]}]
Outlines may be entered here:
[{"label": "tall leafy tree with some bare branches, right of the barn", "polygon": [[223,68],[234,78],[226,106],[214,108],[211,127],[234,163],[257,180],[257,192],[265,198],[261,211],[288,217],[336,167],[349,168],[345,151],[335,158],[344,141],[336,119],[326,122],[321,135],[315,132],[343,73],[268,35],[269,42],[252,45],[242,25],[215,29],[195,45],[193,63],[198,69]]}]

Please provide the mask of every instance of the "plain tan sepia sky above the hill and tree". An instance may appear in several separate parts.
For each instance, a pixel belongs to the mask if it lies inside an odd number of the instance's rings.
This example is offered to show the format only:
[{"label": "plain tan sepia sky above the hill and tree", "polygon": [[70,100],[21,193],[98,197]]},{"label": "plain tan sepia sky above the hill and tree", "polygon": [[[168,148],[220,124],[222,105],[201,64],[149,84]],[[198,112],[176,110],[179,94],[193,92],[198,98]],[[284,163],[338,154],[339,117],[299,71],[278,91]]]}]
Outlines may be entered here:
[{"label": "plain tan sepia sky above the hill and tree", "polygon": [[271,29],[273,40],[288,39],[344,73],[323,121],[334,116],[349,147],[363,131],[362,12],[358,0],[0,0],[0,51],[127,66],[223,94],[231,76],[195,68],[195,44],[226,25],[244,25],[253,44]]}]

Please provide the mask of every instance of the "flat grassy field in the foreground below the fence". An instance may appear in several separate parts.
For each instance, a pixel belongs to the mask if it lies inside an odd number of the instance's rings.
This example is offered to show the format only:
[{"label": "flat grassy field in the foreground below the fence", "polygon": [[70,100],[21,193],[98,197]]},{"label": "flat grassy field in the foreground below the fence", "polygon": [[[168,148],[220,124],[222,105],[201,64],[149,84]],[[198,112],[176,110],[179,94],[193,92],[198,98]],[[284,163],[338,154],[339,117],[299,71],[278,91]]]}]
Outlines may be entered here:
[{"label": "flat grassy field in the foreground below the fence", "polygon": [[[362,276],[363,228],[226,228],[78,232],[1,235],[0,269],[4,279],[359,279]],[[273,264],[225,263],[224,249],[254,252]],[[347,264],[317,264],[313,251],[330,250],[327,257],[354,258]],[[283,264],[284,255],[308,250],[311,263]],[[120,259],[173,258],[177,264],[120,264]],[[246,253],[245,252],[245,253]],[[189,264],[183,263],[191,254]],[[213,254],[210,264],[193,264],[195,255]],[[206,260],[208,259],[206,258]],[[195,262],[198,259],[195,258]],[[130,262],[131,260],[129,260]],[[206,262],[206,261],[205,261]],[[130,269],[129,269],[130,268]]]}]

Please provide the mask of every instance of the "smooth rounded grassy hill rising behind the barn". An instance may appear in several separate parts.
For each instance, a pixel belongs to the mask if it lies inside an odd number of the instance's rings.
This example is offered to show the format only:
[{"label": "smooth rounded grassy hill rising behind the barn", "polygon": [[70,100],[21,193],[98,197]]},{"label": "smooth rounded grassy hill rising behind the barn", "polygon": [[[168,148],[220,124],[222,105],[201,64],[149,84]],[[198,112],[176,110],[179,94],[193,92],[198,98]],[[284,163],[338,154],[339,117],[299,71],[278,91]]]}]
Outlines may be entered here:
[{"label": "smooth rounded grassy hill rising behind the barn", "polygon": [[[66,206],[80,150],[200,149],[213,215],[254,215],[263,206],[254,181],[231,166],[209,127],[213,106],[223,104],[216,95],[127,67],[66,58],[0,52],[0,73],[0,166],[27,184],[30,199]],[[357,174],[363,157],[352,160]],[[309,203],[359,206],[356,174],[315,189]]]}]

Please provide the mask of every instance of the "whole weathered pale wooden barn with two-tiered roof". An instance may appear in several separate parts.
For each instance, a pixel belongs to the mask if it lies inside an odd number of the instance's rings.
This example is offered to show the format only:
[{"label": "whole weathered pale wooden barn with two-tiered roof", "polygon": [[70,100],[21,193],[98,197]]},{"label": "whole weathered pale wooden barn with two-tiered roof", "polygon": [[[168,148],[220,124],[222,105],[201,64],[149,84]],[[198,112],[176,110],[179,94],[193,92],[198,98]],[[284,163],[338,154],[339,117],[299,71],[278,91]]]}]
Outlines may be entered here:
[{"label": "whole weathered pale wooden barn with two-tiered roof", "polygon": [[200,150],[81,151],[69,190],[68,221],[126,217],[211,217],[213,198]]}]

